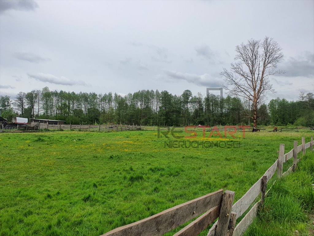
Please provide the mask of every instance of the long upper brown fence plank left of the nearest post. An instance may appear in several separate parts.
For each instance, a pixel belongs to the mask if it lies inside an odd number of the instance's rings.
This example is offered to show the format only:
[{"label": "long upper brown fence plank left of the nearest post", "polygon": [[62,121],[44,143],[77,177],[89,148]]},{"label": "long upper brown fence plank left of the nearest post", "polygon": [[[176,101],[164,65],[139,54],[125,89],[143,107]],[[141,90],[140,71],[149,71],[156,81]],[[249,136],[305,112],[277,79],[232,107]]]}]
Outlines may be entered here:
[{"label": "long upper brown fence plank left of the nearest post", "polygon": [[219,205],[222,200],[222,195],[223,190],[220,189],[214,193],[174,206],[138,222],[113,229],[102,236],[162,235],[194,217],[199,216],[203,212],[208,211],[214,206]]}]

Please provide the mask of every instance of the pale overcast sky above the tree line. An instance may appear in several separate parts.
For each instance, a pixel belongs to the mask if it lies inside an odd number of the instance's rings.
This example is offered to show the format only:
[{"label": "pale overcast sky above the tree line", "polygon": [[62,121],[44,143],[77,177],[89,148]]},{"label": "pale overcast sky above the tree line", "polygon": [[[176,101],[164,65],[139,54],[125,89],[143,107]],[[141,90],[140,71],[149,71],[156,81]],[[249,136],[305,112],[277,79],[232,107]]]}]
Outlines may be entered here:
[{"label": "pale overcast sky above the tree line", "polygon": [[225,84],[236,46],[265,36],[282,48],[285,71],[269,78],[277,93],[266,102],[314,93],[313,0],[1,0],[0,95],[49,87],[206,96]]}]

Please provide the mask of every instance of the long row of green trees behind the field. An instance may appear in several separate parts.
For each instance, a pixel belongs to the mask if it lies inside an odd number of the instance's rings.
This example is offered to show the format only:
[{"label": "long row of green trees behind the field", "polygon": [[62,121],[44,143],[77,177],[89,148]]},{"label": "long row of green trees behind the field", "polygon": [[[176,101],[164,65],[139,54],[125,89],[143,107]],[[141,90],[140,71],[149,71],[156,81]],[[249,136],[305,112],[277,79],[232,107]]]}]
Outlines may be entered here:
[{"label": "long row of green trees behind the field", "polygon": [[[253,104],[240,98],[185,90],[173,95],[164,90],[117,93],[51,91],[48,87],[19,92],[15,100],[0,96],[1,116],[66,121],[67,124],[127,124],[145,126],[252,125]],[[300,94],[298,101],[272,99],[257,110],[258,125],[314,126],[313,93]]]}]

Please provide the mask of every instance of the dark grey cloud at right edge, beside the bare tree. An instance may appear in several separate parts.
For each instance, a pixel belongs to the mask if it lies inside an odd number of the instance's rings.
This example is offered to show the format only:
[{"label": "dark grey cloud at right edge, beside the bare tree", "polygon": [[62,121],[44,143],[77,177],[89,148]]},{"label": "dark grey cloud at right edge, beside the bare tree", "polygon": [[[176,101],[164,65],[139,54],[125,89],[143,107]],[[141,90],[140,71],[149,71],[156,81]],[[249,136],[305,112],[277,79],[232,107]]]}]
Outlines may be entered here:
[{"label": "dark grey cloud at right edge, beside the bare tree", "polygon": [[285,71],[282,76],[294,77],[304,76],[308,78],[314,77],[314,53],[305,52],[298,58],[290,57],[280,66]]}]

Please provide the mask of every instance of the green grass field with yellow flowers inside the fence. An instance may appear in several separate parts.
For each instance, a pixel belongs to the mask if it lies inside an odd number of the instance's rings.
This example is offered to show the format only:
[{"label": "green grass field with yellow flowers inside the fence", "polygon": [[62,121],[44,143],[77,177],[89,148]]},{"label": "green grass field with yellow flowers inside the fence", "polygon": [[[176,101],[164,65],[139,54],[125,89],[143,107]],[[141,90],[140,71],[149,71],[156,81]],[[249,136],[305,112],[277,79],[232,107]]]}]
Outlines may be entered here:
[{"label": "green grass field with yellow flowers inside the fence", "polygon": [[236,201],[278,158],[280,143],[287,152],[311,135],[198,132],[181,140],[237,143],[169,148],[175,139],[156,131],[1,133],[0,235],[96,236],[220,188]]}]

